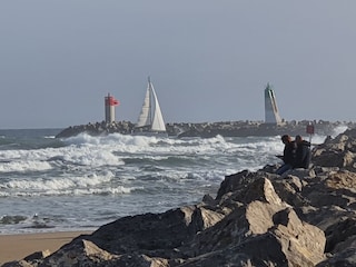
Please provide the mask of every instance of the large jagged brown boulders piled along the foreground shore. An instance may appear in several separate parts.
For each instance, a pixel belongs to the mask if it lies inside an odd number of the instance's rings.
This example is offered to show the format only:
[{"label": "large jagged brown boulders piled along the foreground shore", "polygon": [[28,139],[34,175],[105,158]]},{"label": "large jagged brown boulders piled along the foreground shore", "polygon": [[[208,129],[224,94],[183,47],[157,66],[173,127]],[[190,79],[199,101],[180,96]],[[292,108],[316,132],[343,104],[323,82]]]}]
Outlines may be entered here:
[{"label": "large jagged brown boulders piled along the foreground shore", "polygon": [[313,165],[227,176],[215,198],[120,218],[3,266],[356,266],[356,130],[315,147]]}]

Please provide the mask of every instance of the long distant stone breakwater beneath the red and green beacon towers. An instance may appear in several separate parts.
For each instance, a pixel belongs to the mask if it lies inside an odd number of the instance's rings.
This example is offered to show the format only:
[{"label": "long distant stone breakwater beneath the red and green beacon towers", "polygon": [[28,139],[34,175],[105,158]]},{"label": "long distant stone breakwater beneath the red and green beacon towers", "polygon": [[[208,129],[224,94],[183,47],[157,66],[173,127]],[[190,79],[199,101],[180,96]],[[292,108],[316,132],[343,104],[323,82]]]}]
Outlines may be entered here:
[{"label": "long distant stone breakwater beneath the red and green beacon towers", "polygon": [[[348,128],[356,127],[354,122],[330,122],[324,120],[303,120],[303,121],[284,121],[280,125],[264,123],[261,121],[220,121],[220,122],[201,122],[188,123],[177,122],[167,123],[167,132],[169,136],[179,138],[184,137],[247,137],[247,136],[278,136],[289,134],[291,136],[304,135],[306,126],[313,123],[315,132],[318,135],[333,135],[336,127],[347,126]],[[80,126],[71,126],[63,129],[56,137],[68,138],[79,134],[88,134],[91,136],[102,136],[109,134],[130,135],[134,132],[135,123],[130,121],[113,121],[113,122],[95,122]]]}]

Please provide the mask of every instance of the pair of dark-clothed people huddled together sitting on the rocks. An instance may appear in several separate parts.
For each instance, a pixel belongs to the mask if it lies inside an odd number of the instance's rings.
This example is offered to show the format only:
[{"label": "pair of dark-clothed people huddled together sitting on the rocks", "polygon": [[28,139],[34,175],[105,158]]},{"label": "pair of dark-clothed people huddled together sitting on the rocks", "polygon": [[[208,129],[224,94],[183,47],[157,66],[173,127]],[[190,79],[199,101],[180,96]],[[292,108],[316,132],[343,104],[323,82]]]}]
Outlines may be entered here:
[{"label": "pair of dark-clothed people huddled together sitting on the rocks", "polygon": [[285,148],[283,156],[277,156],[284,164],[277,169],[277,175],[283,175],[289,169],[304,168],[308,169],[312,159],[310,142],[303,140],[301,136],[296,136],[295,140],[291,137],[284,135],[281,137]]}]

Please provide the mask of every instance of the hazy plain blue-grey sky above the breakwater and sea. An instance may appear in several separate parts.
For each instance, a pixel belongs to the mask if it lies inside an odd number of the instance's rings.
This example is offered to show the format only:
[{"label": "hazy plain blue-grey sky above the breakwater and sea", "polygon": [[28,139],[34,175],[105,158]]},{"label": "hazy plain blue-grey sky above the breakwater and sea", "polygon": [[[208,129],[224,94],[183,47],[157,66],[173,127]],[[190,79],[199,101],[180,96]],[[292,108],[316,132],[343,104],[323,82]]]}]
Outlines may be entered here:
[{"label": "hazy plain blue-grey sky above the breakwater and sea", "polygon": [[356,120],[354,0],[3,0],[0,128],[136,122],[150,76],[166,122]]}]

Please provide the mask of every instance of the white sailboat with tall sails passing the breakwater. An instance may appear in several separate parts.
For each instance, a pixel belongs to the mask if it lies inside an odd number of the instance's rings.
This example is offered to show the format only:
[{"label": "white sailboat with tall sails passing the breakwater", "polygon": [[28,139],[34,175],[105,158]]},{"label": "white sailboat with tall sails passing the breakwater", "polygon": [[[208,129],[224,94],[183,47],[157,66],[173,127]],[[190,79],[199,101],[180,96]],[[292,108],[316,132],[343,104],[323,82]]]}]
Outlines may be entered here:
[{"label": "white sailboat with tall sails passing the breakwater", "polygon": [[135,127],[135,134],[145,136],[168,136],[157,95],[149,77],[142,109]]}]

